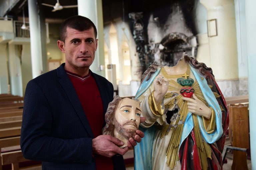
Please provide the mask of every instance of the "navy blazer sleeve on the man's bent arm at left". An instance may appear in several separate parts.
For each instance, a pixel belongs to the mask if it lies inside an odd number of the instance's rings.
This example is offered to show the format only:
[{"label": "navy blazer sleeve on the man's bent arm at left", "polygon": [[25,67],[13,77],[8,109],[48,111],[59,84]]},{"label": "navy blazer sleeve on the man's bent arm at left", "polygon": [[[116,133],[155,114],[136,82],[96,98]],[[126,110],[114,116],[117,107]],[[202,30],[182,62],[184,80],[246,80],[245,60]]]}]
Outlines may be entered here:
[{"label": "navy blazer sleeve on the man's bent arm at left", "polygon": [[36,81],[31,80],[24,96],[21,128],[23,156],[45,162],[92,162],[92,138],[62,139],[50,136],[52,124],[56,123],[51,112],[43,90]]}]

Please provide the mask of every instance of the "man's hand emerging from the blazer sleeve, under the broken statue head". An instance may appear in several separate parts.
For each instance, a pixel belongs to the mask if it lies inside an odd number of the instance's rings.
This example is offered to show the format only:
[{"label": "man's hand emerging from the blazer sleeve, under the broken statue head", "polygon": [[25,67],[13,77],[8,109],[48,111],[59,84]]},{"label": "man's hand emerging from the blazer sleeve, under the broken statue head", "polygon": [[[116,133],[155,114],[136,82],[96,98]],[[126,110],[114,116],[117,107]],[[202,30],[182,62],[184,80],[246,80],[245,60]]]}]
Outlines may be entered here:
[{"label": "man's hand emerging from the blazer sleeve, under the broken statue head", "polygon": [[100,135],[92,139],[92,152],[112,157],[115,154],[124,155],[128,151],[128,147],[120,148],[124,142],[110,135]]}]

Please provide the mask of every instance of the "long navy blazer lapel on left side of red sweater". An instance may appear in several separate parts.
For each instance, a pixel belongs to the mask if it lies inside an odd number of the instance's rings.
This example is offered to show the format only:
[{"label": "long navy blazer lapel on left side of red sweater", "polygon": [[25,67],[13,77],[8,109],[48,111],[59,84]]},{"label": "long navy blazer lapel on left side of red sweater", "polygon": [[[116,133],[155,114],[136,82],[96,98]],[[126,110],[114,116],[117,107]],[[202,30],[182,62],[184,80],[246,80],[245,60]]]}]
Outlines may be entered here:
[{"label": "long navy blazer lapel on left side of red sweater", "polygon": [[80,118],[83,126],[85,127],[86,131],[90,134],[90,136],[92,138],[94,138],[92,129],[89,125],[89,122],[86,118],[86,115],[84,113],[83,107],[80,103],[80,100],[76,94],[76,91],[68,77],[68,75],[66,74],[65,70],[64,70],[64,63],[57,68],[57,76],[59,78],[59,83],[61,84],[62,88],[65,90],[70,102],[72,103],[78,117]]}]

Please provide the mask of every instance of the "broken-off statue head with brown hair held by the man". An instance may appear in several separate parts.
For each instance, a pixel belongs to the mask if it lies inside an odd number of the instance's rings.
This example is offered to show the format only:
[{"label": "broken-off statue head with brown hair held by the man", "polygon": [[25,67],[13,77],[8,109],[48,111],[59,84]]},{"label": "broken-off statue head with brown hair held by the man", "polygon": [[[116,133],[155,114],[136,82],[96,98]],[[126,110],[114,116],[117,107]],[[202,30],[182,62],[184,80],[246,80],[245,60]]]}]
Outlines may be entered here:
[{"label": "broken-off statue head with brown hair held by the man", "polygon": [[121,148],[127,146],[129,138],[135,140],[136,130],[140,124],[141,108],[139,101],[118,95],[108,104],[105,114],[106,126],[103,135],[111,135],[124,142]]}]

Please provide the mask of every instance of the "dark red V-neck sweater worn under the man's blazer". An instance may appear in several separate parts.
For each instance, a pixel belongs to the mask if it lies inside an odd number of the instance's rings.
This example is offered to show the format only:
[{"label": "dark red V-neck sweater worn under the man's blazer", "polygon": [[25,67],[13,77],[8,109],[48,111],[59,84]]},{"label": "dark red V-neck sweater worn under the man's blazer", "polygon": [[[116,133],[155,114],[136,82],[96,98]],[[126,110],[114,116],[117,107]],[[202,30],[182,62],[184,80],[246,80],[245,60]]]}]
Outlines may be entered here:
[{"label": "dark red V-neck sweater worn under the man's blazer", "polygon": [[[101,135],[101,130],[105,121],[103,104],[97,84],[90,72],[84,77],[68,71],[66,72],[75,88],[77,96],[92,129],[93,135],[96,138],[97,136]],[[97,170],[113,169],[113,162],[111,158],[96,154],[94,154],[94,157]]]}]

